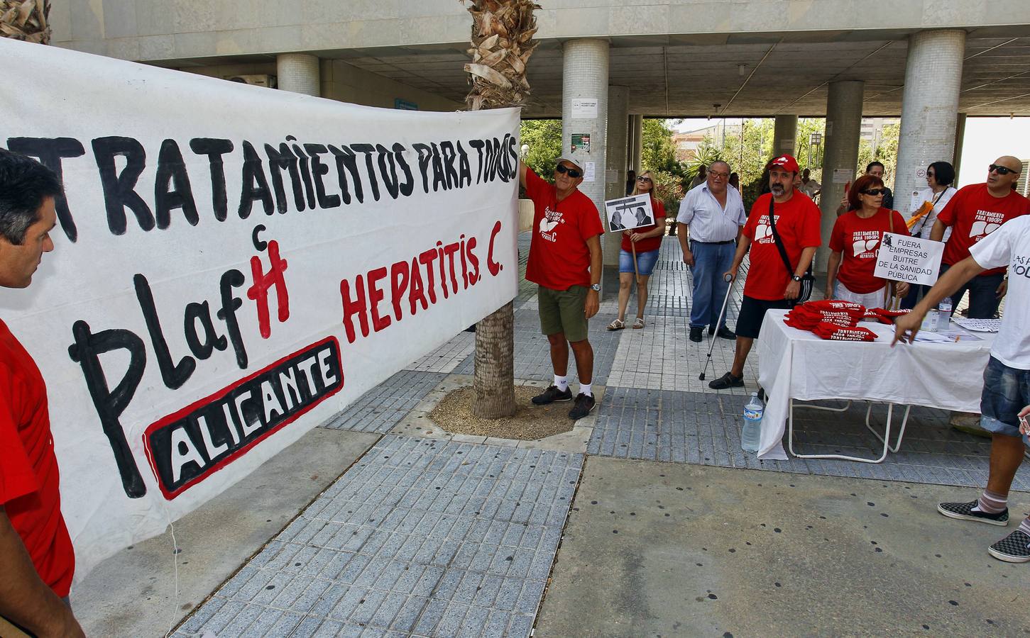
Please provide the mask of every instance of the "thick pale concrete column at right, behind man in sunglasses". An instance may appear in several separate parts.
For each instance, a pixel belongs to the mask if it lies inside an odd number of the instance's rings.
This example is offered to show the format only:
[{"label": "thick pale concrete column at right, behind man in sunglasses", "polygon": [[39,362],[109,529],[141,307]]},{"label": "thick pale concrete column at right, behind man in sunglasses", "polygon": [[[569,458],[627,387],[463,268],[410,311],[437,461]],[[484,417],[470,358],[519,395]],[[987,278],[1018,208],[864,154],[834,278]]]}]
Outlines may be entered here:
[{"label": "thick pale concrete column at right, behind man in sunglasses", "polygon": [[926,187],[926,167],[953,162],[964,52],[961,29],[908,36],[894,177],[894,208],[906,217],[912,214],[912,193]]}]

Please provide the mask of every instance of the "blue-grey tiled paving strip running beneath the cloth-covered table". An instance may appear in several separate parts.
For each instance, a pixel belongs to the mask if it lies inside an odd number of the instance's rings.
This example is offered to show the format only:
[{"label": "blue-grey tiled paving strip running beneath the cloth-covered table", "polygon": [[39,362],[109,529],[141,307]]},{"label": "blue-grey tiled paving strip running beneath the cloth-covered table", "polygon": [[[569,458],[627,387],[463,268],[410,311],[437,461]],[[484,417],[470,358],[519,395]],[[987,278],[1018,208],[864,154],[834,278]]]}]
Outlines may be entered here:
[{"label": "blue-grey tiled paving strip running beneath the cloth-covered table", "polygon": [[[802,454],[879,456],[883,444],[865,428],[865,406],[856,402],[840,414],[795,407],[795,450]],[[741,450],[743,412],[742,396],[610,386],[598,405],[587,453],[965,487],[983,487],[987,482],[990,439],[952,429],[948,413],[939,410],[914,407],[900,452],[889,454],[881,464],[797,458],[758,461]],[[871,422],[879,431],[883,431],[886,412],[886,405],[873,406]],[[895,410],[892,440],[900,417],[900,411]],[[1012,489],[1030,489],[1030,470],[1024,468],[1017,474]]]}]

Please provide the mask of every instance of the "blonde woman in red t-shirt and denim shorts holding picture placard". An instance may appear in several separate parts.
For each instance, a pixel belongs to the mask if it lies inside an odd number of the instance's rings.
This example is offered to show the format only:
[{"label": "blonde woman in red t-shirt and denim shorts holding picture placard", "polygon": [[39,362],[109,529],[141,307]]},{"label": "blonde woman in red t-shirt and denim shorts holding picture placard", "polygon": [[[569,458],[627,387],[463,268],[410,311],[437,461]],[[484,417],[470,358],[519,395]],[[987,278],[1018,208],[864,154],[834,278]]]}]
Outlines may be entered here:
[{"label": "blonde woman in red t-shirt and denim shorts holding picture placard", "polygon": [[[651,171],[644,171],[637,178],[637,186],[631,194],[651,193],[654,190],[654,180]],[[622,249],[619,250],[619,318],[608,324],[609,330],[621,330],[626,327],[626,306],[629,304],[629,287],[633,277],[640,272],[637,283],[637,320],[634,328],[644,327],[644,307],[647,305],[647,280],[654,272],[658,261],[658,249],[661,248],[661,236],[665,233],[665,207],[651,196],[651,210],[654,212],[655,223],[622,232]],[[637,247],[637,269],[633,269],[633,244]]]}]

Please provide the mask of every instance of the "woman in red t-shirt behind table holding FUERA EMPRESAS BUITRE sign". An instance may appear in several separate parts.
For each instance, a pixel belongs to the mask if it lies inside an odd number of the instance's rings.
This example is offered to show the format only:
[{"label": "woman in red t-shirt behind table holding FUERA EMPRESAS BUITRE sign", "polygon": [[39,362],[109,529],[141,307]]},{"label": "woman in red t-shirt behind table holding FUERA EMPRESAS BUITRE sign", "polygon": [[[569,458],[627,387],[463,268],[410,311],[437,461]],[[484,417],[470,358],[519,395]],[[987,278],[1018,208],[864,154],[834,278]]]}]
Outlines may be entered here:
[{"label": "woman in red t-shirt behind table holding FUERA EMPRESAS BUITRE sign", "polygon": [[[848,191],[849,210],[837,217],[830,234],[830,258],[826,264],[826,296],[861,304],[866,308],[885,306],[885,280],[874,277],[877,253],[884,233],[908,235],[904,217],[882,208],[884,181],[863,175]],[[908,284],[899,282],[896,294],[904,296]]]}]

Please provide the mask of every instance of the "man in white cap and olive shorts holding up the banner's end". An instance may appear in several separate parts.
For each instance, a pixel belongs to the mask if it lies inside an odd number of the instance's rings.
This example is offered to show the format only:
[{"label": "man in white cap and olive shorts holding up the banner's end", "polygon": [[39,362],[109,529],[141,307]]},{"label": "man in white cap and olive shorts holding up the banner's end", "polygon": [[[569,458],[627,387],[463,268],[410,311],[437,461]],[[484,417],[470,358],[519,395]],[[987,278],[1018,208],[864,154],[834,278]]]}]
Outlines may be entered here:
[{"label": "man in white cap and olive shorts holding up the banner's end", "polygon": [[597,314],[600,293],[600,225],[597,207],[578,187],[583,163],[558,157],[554,185],[519,163],[519,182],[533,200],[533,241],[525,278],[538,286],[540,328],[551,346],[554,385],[533,397],[537,405],[571,401],[569,348],[576,357],[580,391],[571,419],[590,414],[596,401],[590,382],[593,348],[587,340],[587,320]]}]

